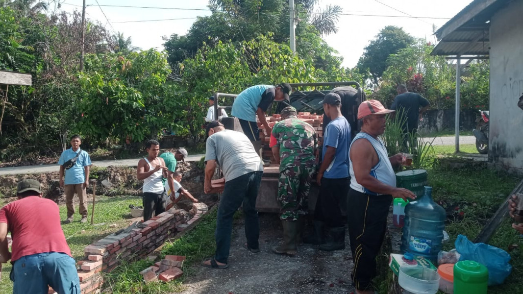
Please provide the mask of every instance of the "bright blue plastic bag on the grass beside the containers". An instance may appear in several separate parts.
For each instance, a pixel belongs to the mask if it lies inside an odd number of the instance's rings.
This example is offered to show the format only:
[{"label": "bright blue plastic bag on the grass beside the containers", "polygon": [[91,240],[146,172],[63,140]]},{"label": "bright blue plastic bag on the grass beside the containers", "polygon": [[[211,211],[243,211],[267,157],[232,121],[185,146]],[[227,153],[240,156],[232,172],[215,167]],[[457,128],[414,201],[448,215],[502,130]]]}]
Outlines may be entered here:
[{"label": "bright blue plastic bag on the grass beside the containers", "polygon": [[508,263],[510,255],[498,247],[485,243],[474,244],[463,235],[458,236],[455,245],[461,254],[460,261],[475,261],[487,267],[488,286],[503,284],[512,272],[512,266]]}]

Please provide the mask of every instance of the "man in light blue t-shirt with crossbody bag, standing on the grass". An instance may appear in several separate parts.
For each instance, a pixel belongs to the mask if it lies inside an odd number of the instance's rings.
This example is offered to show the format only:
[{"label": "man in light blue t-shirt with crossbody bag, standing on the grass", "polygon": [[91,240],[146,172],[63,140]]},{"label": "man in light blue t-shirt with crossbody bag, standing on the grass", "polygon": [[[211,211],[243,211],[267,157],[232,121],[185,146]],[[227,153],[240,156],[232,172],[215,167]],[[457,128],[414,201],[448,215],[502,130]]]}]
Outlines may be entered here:
[{"label": "man in light blue t-shirt with crossbody bag, standing on the grass", "polygon": [[[65,190],[65,205],[67,207],[67,219],[65,223],[73,221],[74,203],[73,196],[76,193],[80,202],[78,211],[82,214],[80,222],[87,221],[87,186],[89,185],[89,166],[92,164],[89,154],[80,149],[82,139],[79,135],[71,138],[71,149],[67,149],[60,155],[60,187]],[[75,161],[70,161],[74,160]],[[65,180],[64,180],[65,174]]]}]

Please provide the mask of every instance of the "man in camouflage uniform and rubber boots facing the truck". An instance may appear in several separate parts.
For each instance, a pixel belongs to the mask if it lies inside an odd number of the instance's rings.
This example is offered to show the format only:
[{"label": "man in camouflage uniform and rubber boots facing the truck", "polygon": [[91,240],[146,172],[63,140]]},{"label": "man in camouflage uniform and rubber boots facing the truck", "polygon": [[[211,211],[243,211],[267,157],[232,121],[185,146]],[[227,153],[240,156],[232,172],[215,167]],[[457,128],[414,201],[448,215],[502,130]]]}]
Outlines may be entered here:
[{"label": "man in camouflage uniform and rubber boots facing the truck", "polygon": [[316,172],[316,132],[298,119],[292,106],[281,110],[281,118],[272,128],[269,143],[276,161],[280,162],[278,202],[283,225],[283,243],[273,251],[292,255],[300,242],[311,181]]}]

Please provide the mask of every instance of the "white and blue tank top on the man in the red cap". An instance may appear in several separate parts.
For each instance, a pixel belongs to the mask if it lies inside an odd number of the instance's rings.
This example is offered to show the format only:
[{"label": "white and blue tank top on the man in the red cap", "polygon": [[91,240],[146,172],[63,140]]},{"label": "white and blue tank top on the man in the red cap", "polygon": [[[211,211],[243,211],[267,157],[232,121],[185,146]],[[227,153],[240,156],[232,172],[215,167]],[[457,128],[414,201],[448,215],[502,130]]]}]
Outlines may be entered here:
[{"label": "white and blue tank top on the man in the red cap", "polygon": [[[378,138],[374,139],[371,135],[364,132],[359,132],[355,137],[353,142],[350,144],[350,146],[353,146],[353,143],[356,140],[359,139],[367,139],[372,146],[374,147],[374,150],[376,150],[376,153],[378,154],[379,161],[378,163],[373,166],[370,170],[370,175],[379,180],[381,183],[390,185],[390,186],[396,186],[396,175],[394,174],[394,169],[392,169],[392,164],[389,160],[389,155],[387,153],[387,149],[385,148],[385,144],[383,144],[383,141]],[[350,153],[350,149],[349,149]],[[354,175],[354,169],[353,169],[353,162],[350,160],[349,157],[349,172],[350,172],[350,187],[355,189],[356,191],[359,191],[361,193],[369,194],[369,195],[381,195],[378,193],[375,193],[360,184],[356,182],[356,176]]]}]

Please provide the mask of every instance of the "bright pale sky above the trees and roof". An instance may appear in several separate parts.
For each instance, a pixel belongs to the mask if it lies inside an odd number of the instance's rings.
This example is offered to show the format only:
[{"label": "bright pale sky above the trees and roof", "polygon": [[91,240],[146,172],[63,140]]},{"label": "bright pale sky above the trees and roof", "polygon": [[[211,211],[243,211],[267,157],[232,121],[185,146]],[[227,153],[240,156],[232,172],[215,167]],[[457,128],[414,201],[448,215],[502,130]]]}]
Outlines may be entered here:
[{"label": "bright pale sky above the trees and roof", "polygon": [[[61,9],[66,12],[82,10],[82,0],[61,0]],[[333,47],[339,56],[343,56],[343,66],[354,67],[363,54],[364,48],[378,35],[380,29],[393,25],[402,27],[416,38],[435,42],[433,28],[439,28],[472,0],[320,0],[319,7],[339,5],[344,14],[366,14],[403,17],[372,17],[340,15],[338,32],[323,39]],[[97,3],[101,6],[99,7]],[[111,32],[123,32],[131,37],[133,46],[141,49],[156,48],[163,50],[162,36],[173,33],[185,35],[198,16],[209,16],[208,0],[86,0],[86,17],[98,20]],[[185,9],[146,9],[107,7],[104,5],[152,6]],[[100,9],[101,8],[101,9]],[[50,7],[53,10],[54,6]],[[447,19],[429,19],[436,17]],[[173,19],[163,21],[123,22],[137,20]]]}]

